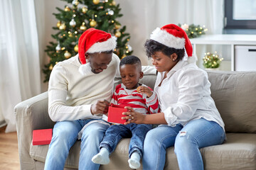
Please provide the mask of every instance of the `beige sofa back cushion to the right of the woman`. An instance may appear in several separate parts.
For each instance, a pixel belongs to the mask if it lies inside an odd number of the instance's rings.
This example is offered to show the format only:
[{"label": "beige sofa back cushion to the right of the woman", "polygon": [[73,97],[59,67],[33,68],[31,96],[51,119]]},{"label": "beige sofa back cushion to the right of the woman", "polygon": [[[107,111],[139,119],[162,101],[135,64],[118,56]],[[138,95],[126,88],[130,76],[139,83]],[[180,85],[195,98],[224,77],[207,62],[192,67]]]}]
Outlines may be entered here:
[{"label": "beige sofa back cushion to the right of the woman", "polygon": [[[224,74],[223,74],[224,73]],[[256,132],[255,72],[208,72],[226,132]]]}]

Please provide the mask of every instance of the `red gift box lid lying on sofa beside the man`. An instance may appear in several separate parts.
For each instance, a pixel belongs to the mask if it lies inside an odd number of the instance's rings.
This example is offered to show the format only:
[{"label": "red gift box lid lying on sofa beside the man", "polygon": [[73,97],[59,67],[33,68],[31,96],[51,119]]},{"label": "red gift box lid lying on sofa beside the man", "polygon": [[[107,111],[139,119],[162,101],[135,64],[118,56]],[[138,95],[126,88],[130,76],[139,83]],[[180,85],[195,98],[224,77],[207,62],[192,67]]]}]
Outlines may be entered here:
[{"label": "red gift box lid lying on sofa beside the man", "polygon": [[48,145],[53,136],[53,129],[33,130],[33,145]]}]

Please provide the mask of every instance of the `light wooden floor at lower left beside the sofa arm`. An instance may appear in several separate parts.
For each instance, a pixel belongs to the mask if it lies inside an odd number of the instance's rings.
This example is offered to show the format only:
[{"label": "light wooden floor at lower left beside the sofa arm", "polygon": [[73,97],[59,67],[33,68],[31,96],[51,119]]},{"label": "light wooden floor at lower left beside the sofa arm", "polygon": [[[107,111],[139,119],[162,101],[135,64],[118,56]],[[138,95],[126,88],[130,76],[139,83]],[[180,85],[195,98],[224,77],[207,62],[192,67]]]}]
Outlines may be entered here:
[{"label": "light wooden floor at lower left beside the sofa arm", "polygon": [[17,133],[5,133],[5,128],[0,128],[0,169],[17,170],[20,169]]}]

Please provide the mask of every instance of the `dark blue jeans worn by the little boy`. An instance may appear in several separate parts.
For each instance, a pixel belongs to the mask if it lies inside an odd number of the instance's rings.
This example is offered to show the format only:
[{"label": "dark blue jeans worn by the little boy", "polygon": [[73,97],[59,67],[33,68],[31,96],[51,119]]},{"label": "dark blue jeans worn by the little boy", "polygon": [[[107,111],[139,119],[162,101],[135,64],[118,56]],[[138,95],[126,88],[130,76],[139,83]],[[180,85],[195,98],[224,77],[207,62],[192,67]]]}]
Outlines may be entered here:
[{"label": "dark blue jeans worn by the little boy", "polygon": [[105,147],[110,154],[117,147],[119,140],[122,138],[131,137],[129,143],[129,157],[131,157],[132,152],[139,152],[142,157],[143,143],[146,136],[146,132],[151,130],[151,125],[130,123],[128,125],[112,125],[107,129],[105,136],[100,143],[100,148]]}]

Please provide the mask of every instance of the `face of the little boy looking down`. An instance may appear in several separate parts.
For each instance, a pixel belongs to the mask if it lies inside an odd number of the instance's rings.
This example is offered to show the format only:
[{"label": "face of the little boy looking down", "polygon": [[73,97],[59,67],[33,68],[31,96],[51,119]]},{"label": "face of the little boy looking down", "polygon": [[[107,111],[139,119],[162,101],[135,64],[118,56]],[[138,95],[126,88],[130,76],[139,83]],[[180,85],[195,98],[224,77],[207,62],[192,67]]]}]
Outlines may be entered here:
[{"label": "face of the little boy looking down", "polygon": [[142,67],[139,64],[124,64],[120,67],[122,83],[127,89],[136,89],[139,79],[142,79]]}]

